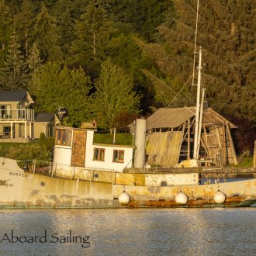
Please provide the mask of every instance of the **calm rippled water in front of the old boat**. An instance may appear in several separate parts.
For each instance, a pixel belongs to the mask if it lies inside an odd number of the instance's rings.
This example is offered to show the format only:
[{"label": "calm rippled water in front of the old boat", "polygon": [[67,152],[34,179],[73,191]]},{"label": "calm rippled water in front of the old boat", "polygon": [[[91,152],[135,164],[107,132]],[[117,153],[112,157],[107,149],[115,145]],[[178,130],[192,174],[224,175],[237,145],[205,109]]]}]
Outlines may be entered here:
[{"label": "calm rippled water in front of the old boat", "polygon": [[[256,207],[1,210],[0,215],[1,240],[5,233],[11,237],[11,230],[19,237],[47,230],[47,243],[3,240],[1,255],[256,255]],[[90,247],[50,243],[52,234],[59,239],[69,230],[89,236]]]}]

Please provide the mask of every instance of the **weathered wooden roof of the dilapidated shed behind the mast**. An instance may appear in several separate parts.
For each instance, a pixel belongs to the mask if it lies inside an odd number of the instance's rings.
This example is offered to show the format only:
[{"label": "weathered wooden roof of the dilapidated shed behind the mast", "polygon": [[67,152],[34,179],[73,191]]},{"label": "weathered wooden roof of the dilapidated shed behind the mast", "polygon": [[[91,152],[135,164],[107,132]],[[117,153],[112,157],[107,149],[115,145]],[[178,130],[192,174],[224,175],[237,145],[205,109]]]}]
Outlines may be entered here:
[{"label": "weathered wooden roof of the dilapidated shed behind the mast", "polygon": [[[195,116],[195,107],[183,107],[175,109],[158,109],[147,118],[147,130],[153,128],[175,128],[185,123],[192,116]],[[237,128],[233,123],[221,116],[213,109],[206,109],[202,123],[223,125],[229,123],[230,128]]]}]

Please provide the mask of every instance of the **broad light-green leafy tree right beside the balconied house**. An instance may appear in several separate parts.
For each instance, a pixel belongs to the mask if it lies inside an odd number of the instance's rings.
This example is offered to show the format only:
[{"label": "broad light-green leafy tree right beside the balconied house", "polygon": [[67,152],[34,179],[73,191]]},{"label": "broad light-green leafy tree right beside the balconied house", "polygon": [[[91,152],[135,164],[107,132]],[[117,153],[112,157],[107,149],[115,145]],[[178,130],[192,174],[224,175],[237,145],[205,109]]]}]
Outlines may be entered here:
[{"label": "broad light-green leafy tree right beside the balconied house", "polygon": [[36,98],[39,112],[57,112],[67,107],[67,124],[79,126],[90,117],[90,79],[80,68],[70,70],[57,62],[48,62],[37,68],[29,84],[29,90]]}]

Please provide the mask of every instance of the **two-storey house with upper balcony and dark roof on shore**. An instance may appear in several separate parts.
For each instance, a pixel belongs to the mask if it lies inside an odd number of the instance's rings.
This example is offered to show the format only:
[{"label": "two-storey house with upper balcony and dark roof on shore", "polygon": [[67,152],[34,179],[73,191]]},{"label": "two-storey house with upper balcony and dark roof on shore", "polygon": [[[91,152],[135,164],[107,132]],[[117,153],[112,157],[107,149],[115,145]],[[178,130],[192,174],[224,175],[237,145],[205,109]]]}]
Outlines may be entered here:
[{"label": "two-storey house with upper balcony and dark roof on shore", "polygon": [[0,91],[0,141],[27,142],[54,136],[54,127],[60,120],[54,113],[33,109],[33,99],[26,91]]}]

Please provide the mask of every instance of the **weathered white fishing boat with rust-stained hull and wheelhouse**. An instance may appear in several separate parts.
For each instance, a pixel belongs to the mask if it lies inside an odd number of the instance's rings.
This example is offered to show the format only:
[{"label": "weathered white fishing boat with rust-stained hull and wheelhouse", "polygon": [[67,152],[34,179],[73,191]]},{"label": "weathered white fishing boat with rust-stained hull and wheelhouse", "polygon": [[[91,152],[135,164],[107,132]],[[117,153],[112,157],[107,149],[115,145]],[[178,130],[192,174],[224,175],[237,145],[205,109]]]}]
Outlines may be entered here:
[{"label": "weathered white fishing boat with rust-stained hull and wheelhouse", "polygon": [[[0,157],[0,208],[228,207],[256,203],[256,179],[199,184],[199,167],[148,168],[145,119],[133,147],[94,144],[94,130],[58,127],[54,162],[37,172]],[[196,159],[192,162],[196,165]],[[134,164],[134,168],[133,167]],[[192,164],[190,162],[190,164]],[[182,166],[182,164],[180,164]],[[41,167],[42,168],[42,167]],[[47,170],[47,172],[46,172]]]}]

